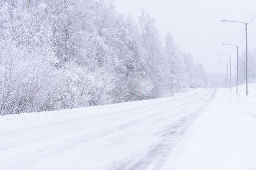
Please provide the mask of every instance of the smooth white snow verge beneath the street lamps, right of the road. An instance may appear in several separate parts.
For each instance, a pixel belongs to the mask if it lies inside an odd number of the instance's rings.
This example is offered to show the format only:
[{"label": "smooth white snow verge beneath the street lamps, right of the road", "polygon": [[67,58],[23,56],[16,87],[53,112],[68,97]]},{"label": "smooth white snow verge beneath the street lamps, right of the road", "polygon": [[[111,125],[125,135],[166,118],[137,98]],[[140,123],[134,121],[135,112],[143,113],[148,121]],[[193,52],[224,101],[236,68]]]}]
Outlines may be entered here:
[{"label": "smooth white snow verge beneath the street lamps, right of the road", "polygon": [[256,170],[256,85],[219,89],[162,170]]}]

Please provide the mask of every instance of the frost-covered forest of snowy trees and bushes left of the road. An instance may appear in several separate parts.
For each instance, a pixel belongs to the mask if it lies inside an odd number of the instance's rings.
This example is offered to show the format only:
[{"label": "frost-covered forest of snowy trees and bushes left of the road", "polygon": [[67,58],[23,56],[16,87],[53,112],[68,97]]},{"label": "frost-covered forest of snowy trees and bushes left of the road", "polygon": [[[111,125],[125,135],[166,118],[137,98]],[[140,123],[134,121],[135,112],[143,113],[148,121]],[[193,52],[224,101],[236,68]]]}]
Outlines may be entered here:
[{"label": "frost-covered forest of snowy trees and bushes left of the road", "polygon": [[0,0],[0,115],[205,87],[203,66],[154,23],[143,9],[123,15],[113,0]]}]

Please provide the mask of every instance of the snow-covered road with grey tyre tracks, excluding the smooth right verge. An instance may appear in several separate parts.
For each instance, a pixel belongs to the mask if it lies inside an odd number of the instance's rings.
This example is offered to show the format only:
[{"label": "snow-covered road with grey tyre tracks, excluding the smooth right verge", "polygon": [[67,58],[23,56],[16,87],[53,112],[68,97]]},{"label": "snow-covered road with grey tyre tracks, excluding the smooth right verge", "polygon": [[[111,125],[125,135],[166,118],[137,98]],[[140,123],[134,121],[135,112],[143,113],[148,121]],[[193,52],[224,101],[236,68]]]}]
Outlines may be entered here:
[{"label": "snow-covered road with grey tyre tracks, excluding the smooth right verge", "polygon": [[1,117],[0,170],[185,170],[216,93]]}]

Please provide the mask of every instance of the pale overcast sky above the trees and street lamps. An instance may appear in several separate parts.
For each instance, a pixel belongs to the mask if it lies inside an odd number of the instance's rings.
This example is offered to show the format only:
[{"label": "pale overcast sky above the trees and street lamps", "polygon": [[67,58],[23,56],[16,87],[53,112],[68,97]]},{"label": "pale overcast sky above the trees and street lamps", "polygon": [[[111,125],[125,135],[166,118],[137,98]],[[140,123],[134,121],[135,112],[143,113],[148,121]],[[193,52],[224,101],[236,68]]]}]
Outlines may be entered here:
[{"label": "pale overcast sky above the trees and street lamps", "polygon": [[[156,18],[161,38],[169,32],[177,46],[191,53],[207,72],[219,71],[218,62],[228,61],[218,54],[232,55],[235,66],[235,47],[220,44],[239,45],[244,33],[244,24],[220,20],[249,23],[256,14],[256,0],[116,0],[115,4],[118,11],[135,19],[143,7]],[[248,39],[249,49],[256,48],[256,18],[249,27]],[[245,41],[240,51],[245,51]]]}]

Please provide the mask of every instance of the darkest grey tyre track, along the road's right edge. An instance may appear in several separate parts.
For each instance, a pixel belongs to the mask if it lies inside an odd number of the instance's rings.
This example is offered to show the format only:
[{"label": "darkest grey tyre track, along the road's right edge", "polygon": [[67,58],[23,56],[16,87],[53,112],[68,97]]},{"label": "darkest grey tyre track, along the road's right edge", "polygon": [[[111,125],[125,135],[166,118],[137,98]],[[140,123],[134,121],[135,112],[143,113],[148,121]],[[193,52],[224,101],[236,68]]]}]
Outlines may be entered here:
[{"label": "darkest grey tyre track, along the road's right edge", "polygon": [[[173,148],[185,135],[187,129],[199,116],[199,114],[205,109],[205,107],[212,101],[216,90],[214,90],[211,98],[208,99],[205,105],[199,107],[192,114],[184,116],[179,119],[176,123],[171,123],[162,132],[159,141],[150,146],[148,153],[144,157],[138,159],[139,161],[134,162],[134,157],[129,159],[127,162],[115,163],[112,165],[110,170],[157,170],[165,162],[168,156],[171,154]],[[136,160],[136,158],[135,158]]]}]

